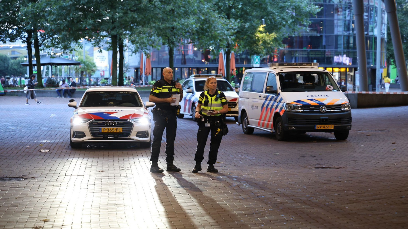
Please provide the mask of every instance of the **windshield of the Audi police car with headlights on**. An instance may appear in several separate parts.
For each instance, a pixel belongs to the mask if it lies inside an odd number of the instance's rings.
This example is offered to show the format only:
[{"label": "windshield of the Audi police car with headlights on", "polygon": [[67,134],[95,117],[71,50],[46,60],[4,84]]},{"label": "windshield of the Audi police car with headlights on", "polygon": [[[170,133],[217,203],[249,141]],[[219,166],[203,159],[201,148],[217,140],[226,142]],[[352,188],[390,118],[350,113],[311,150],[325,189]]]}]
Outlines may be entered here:
[{"label": "windshield of the Audi police car with headlights on", "polygon": [[97,91],[86,92],[80,107],[95,106],[127,106],[142,107],[142,102],[136,92]]}]

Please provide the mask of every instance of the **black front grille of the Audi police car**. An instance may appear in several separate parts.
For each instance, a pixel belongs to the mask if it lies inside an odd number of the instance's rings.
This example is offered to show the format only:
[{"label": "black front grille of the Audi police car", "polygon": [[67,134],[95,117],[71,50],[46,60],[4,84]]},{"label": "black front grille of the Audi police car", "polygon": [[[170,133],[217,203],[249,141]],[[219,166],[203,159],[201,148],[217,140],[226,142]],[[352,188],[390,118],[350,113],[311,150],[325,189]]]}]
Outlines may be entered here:
[{"label": "black front grille of the Audi police car", "polygon": [[[105,122],[106,121],[114,121],[116,122],[116,125],[112,126],[106,126]],[[89,123],[89,131],[91,132],[92,137],[94,138],[104,138],[107,140],[114,140],[117,138],[127,138],[130,136],[133,128],[133,123],[129,120],[118,120],[118,119],[113,119],[113,120],[94,120]],[[122,133],[101,133],[100,128],[102,127],[119,127],[122,128]]]}]

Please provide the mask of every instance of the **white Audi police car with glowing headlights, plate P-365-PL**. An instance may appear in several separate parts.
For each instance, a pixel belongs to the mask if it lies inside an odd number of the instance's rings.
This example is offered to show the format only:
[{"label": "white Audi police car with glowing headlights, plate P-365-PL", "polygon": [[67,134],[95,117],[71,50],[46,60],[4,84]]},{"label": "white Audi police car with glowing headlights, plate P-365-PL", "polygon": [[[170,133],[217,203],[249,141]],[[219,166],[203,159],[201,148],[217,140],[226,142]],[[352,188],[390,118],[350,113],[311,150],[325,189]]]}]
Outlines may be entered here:
[{"label": "white Audi police car with glowing headlights, plate P-365-PL", "polygon": [[135,142],[142,147],[151,145],[151,115],[147,108],[155,103],[143,101],[135,88],[88,88],[71,117],[71,148],[82,143]]}]

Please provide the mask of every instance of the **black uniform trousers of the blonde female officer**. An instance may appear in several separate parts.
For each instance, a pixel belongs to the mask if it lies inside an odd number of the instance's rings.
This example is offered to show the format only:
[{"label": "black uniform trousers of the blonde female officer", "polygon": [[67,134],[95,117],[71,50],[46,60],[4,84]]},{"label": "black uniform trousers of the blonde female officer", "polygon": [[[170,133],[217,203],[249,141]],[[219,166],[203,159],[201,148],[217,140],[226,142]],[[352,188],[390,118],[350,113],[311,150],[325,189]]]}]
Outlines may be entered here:
[{"label": "black uniform trousers of the blonde female officer", "polygon": [[197,132],[197,150],[195,151],[194,161],[202,162],[204,160],[204,148],[207,143],[208,134],[211,132],[210,138],[210,152],[208,153],[207,164],[215,164],[217,162],[218,148],[222,140],[222,127],[214,125],[214,121],[218,120],[213,118],[211,120],[211,126],[206,127],[205,121],[201,122]]}]

